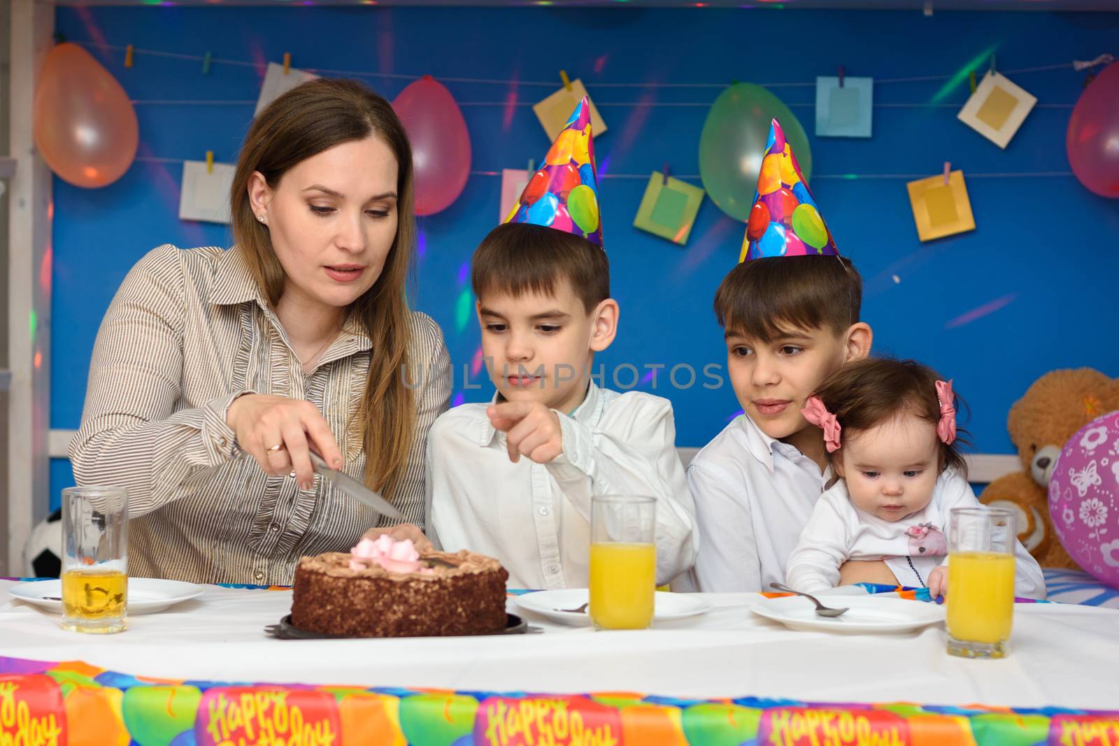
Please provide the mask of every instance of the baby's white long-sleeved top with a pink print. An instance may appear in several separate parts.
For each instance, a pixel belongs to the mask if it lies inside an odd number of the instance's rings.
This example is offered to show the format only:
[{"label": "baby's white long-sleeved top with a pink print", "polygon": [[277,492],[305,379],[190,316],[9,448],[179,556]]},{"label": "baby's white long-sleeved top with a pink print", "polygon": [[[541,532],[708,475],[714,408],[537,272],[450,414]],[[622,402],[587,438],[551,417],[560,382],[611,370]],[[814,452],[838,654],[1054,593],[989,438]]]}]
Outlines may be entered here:
[{"label": "baby's white long-sleeved top with a pink print", "polygon": [[[848,559],[884,559],[899,583],[924,587],[929,573],[948,555],[948,511],[978,506],[963,474],[946,469],[928,506],[900,521],[886,521],[856,508],[846,482],[839,480],[817,501],[789,557],[787,583],[807,593],[834,588],[839,585],[839,566]],[[1022,542],[1015,544],[1014,593],[1044,598],[1045,579],[1037,560]]]}]

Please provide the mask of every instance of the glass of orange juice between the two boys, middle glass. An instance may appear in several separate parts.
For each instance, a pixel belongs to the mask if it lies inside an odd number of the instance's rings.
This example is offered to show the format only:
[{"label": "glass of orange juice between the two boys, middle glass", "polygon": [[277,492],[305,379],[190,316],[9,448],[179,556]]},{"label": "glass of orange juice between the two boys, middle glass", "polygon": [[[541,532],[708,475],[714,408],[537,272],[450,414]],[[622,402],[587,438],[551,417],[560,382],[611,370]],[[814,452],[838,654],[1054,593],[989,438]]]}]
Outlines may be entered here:
[{"label": "glass of orange juice between the two boys, middle glass", "polygon": [[596,630],[645,630],[652,624],[656,536],[655,498],[627,494],[591,499],[589,611]]}]

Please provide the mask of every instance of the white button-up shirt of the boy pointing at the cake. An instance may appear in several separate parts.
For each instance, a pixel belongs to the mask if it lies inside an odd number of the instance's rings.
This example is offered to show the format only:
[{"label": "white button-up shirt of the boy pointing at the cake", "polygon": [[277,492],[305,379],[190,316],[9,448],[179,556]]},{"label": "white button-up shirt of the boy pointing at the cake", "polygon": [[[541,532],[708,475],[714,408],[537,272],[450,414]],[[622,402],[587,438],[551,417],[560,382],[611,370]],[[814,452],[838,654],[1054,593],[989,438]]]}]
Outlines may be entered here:
[{"label": "white button-up shirt of the boy pointing at the cake", "polygon": [[496,557],[509,587],[587,587],[592,494],[657,498],[657,583],[695,561],[695,508],[676,453],[668,399],[591,381],[561,412],[563,453],[509,461],[486,404],[441,415],[427,435],[427,536],[448,551]]}]

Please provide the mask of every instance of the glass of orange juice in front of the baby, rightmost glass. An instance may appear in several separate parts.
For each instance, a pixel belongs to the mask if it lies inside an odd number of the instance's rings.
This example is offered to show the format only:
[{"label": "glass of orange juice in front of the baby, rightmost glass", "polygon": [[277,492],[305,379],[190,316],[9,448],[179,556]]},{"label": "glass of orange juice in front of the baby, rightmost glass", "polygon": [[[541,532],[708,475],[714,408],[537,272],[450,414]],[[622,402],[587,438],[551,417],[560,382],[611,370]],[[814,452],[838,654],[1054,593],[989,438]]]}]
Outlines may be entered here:
[{"label": "glass of orange juice in front of the baby, rightmost glass", "polygon": [[1015,513],[952,508],[948,521],[948,654],[1006,658],[1014,621]]}]

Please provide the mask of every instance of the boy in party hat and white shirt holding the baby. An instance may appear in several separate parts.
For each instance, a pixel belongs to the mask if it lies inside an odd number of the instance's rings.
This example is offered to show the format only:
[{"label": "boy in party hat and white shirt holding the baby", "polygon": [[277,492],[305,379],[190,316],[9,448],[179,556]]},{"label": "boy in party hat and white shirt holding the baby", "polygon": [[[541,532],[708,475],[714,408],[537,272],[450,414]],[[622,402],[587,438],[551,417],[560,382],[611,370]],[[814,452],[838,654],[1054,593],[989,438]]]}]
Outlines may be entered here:
[{"label": "boy in party hat and white shirt holding the baby", "polygon": [[[784,582],[831,480],[821,432],[800,409],[828,374],[869,352],[862,295],[773,120],[740,264],[715,294],[743,414],[688,464],[703,537],[692,576],[698,589],[769,591]],[[881,563],[872,569],[885,579]]]}]

